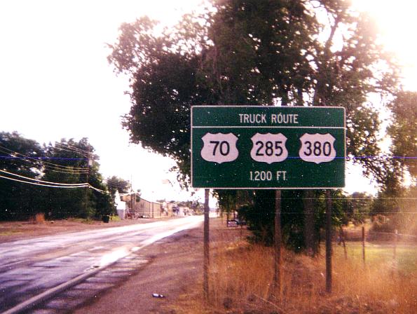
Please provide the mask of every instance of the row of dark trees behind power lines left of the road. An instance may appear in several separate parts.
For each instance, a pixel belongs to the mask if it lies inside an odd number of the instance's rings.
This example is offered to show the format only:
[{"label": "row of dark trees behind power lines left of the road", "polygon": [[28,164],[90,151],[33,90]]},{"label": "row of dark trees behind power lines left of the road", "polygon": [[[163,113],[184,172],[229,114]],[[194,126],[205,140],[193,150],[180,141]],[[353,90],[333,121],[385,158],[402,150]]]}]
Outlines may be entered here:
[{"label": "row of dark trees behind power lines left of the road", "polygon": [[116,189],[128,192],[130,183],[104,180],[98,159],[87,138],[41,145],[18,132],[0,132],[0,220],[26,220],[37,213],[48,219],[114,213]]}]

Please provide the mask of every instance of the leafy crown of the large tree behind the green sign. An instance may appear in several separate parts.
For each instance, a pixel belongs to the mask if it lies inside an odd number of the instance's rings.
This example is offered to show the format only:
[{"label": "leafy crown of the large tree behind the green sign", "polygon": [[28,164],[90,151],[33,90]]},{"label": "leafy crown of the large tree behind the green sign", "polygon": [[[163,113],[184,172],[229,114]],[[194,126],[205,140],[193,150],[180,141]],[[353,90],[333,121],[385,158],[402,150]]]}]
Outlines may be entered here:
[{"label": "leafy crown of the large tree behind the green sign", "polygon": [[[218,0],[160,36],[156,24],[124,23],[109,62],[130,77],[132,107],[123,119],[130,140],[174,158],[182,182],[190,172],[190,107],[199,104],[345,107],[348,156],[364,157],[353,161],[378,182],[388,177],[386,163],[367,158],[380,153],[378,111],[367,97],[395,93],[397,68],[372,21],[349,1]],[[313,206],[317,193],[296,206]],[[313,221],[307,212],[301,221]]]}]

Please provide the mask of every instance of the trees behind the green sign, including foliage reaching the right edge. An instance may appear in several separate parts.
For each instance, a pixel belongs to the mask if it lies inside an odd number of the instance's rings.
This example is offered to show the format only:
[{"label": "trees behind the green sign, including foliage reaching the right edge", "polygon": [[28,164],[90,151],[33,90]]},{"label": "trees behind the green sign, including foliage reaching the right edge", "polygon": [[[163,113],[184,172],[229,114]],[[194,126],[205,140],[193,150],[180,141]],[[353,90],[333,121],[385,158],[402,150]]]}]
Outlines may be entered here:
[{"label": "trees behind the green sign, including foliage reaching the right edge", "polygon": [[[130,141],[173,158],[184,186],[191,106],[205,104],[344,107],[348,158],[376,180],[381,200],[399,196],[406,174],[416,175],[417,94],[402,90],[395,57],[350,1],[214,0],[162,34],[156,27],[146,16],[123,23],[108,59],[130,78],[132,107],[123,118]],[[388,153],[380,110],[392,113]],[[273,239],[273,193],[217,191],[221,205],[240,208],[264,243]],[[288,245],[317,247],[323,198],[320,190],[283,191]],[[347,206],[334,202],[336,221],[348,217]]]}]

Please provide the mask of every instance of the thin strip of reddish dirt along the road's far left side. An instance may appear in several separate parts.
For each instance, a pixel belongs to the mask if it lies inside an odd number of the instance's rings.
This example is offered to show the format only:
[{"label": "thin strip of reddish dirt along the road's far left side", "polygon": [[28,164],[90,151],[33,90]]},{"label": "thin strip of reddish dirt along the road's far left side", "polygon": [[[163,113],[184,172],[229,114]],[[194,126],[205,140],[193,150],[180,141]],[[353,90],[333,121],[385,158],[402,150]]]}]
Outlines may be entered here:
[{"label": "thin strip of reddish dirt along the road's far left side", "polygon": [[63,219],[38,223],[35,221],[0,222],[0,243],[58,233],[114,228],[130,224],[146,224],[152,221],[157,221],[157,219],[111,220],[109,223],[85,219]]}]

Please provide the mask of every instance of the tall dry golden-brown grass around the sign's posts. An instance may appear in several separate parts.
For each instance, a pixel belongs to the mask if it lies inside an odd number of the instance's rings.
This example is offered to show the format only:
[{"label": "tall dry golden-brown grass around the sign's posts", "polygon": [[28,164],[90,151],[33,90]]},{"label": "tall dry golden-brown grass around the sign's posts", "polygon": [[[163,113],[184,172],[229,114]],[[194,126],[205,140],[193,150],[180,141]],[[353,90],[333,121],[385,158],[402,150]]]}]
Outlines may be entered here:
[{"label": "tall dry golden-brown grass around the sign's posts", "polygon": [[209,302],[198,285],[179,298],[177,313],[417,313],[416,272],[400,275],[381,261],[364,266],[360,258],[346,260],[337,246],[331,294],[325,292],[324,256],[283,250],[282,294],[274,299],[273,249],[224,238],[212,243]]}]

